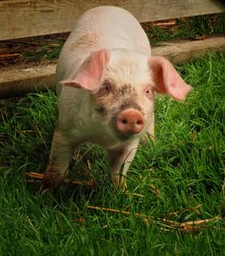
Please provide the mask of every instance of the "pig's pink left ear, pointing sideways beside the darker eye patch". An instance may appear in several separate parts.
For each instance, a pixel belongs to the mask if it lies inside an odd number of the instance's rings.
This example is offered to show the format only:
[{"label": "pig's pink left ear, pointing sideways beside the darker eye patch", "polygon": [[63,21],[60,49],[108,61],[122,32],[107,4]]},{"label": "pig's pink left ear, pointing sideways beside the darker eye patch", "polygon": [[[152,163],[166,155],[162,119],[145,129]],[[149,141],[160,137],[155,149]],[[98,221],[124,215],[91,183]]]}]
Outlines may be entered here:
[{"label": "pig's pink left ear, pointing sideways beside the darker eye patch", "polygon": [[78,69],[74,78],[60,81],[63,86],[93,91],[99,86],[110,54],[108,50],[94,51]]}]

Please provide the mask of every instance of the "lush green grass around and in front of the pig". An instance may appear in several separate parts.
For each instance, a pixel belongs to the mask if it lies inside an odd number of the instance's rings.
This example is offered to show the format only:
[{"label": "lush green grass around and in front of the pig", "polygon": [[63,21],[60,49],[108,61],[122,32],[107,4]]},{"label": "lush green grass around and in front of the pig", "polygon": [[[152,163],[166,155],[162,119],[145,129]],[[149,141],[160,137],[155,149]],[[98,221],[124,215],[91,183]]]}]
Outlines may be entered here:
[{"label": "lush green grass around and in front of the pig", "polygon": [[177,67],[193,92],[185,103],[157,98],[157,141],[139,147],[128,174],[130,196],[115,190],[104,151],[90,145],[76,151],[73,169],[76,176],[94,177],[97,187],[41,194],[25,173],[43,172],[48,163],[56,96],[1,103],[0,255],[224,255],[224,219],[196,233],[157,224],[157,217],[182,223],[224,216],[224,67],[221,52]]}]

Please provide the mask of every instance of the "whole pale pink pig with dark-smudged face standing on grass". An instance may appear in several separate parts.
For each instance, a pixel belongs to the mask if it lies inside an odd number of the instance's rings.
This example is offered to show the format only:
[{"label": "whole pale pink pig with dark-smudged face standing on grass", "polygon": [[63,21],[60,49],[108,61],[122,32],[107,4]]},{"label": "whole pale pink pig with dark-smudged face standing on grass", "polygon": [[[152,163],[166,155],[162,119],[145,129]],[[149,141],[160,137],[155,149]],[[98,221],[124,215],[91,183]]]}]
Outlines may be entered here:
[{"label": "whole pale pink pig with dark-smudged face standing on grass", "polygon": [[91,142],[107,151],[115,187],[125,177],[140,141],[154,141],[155,94],[184,101],[192,89],[165,58],[151,56],[146,33],[128,11],[88,10],[76,22],[56,70],[58,124],[43,187],[67,176],[73,150]]}]

